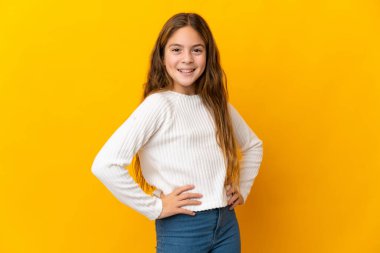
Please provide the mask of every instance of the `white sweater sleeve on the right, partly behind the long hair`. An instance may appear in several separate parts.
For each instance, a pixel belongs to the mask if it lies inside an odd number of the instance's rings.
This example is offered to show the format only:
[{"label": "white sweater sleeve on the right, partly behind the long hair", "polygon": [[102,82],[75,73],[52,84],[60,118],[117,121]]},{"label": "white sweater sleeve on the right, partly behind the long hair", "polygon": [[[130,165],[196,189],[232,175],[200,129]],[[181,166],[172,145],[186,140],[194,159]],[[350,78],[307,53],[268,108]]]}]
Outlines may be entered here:
[{"label": "white sweater sleeve on the right, partly behind the long hair", "polygon": [[246,203],[263,158],[263,142],[252,131],[239,112],[230,104],[234,133],[242,152],[240,162],[240,193]]}]

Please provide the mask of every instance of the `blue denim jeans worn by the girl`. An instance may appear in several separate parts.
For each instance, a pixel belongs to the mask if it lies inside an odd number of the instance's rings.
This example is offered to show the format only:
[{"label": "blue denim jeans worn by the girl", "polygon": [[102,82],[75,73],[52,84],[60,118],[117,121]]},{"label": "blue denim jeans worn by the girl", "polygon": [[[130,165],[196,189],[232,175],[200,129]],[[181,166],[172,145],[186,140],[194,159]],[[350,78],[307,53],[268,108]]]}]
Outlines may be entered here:
[{"label": "blue denim jeans worn by the girl", "polygon": [[230,206],[155,220],[157,253],[240,253],[240,231]]}]

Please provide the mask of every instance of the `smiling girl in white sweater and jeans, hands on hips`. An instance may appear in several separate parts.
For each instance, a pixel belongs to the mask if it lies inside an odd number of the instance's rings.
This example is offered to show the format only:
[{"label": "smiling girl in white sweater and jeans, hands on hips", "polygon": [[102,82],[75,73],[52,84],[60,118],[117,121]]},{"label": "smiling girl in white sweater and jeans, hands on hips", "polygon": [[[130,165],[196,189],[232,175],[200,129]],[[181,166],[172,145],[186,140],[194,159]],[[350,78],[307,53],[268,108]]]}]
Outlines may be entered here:
[{"label": "smiling girl in white sweater and jeans, hands on hips", "polygon": [[[155,220],[157,252],[235,253],[241,243],[234,207],[247,200],[262,147],[228,102],[206,21],[179,13],[158,36],[143,101],[91,170],[122,203]],[[134,157],[139,184],[125,169]]]}]

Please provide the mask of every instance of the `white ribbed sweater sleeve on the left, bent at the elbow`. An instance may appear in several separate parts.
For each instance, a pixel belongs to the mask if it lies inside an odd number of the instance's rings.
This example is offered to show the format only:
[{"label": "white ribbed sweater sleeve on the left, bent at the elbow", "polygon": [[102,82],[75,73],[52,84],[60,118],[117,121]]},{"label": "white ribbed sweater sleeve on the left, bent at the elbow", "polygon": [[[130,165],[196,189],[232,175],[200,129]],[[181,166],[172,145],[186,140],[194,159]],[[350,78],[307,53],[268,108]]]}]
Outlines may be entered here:
[{"label": "white ribbed sweater sleeve on the left, bent at the elbow", "polygon": [[91,167],[92,173],[119,201],[149,220],[160,215],[162,200],[146,194],[125,167],[162,126],[167,108],[159,94],[146,97],[100,149]]}]

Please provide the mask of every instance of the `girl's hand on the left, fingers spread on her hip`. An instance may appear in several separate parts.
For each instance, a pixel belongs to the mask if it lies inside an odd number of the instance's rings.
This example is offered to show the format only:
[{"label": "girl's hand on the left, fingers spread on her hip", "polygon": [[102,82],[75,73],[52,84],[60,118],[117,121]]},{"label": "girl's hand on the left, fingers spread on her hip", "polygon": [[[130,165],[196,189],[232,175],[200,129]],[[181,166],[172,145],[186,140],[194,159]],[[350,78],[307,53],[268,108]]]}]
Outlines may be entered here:
[{"label": "girl's hand on the left, fingers spread on her hip", "polygon": [[162,200],[162,211],[158,219],[162,219],[175,214],[188,214],[194,215],[195,212],[181,208],[187,205],[200,205],[202,202],[198,200],[192,200],[191,198],[203,197],[200,193],[183,193],[194,189],[194,185],[185,185],[175,188],[170,194],[165,195],[161,192],[160,198]]}]

